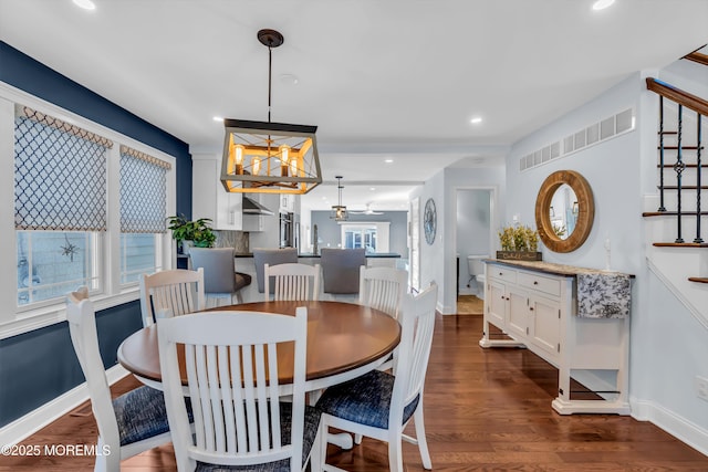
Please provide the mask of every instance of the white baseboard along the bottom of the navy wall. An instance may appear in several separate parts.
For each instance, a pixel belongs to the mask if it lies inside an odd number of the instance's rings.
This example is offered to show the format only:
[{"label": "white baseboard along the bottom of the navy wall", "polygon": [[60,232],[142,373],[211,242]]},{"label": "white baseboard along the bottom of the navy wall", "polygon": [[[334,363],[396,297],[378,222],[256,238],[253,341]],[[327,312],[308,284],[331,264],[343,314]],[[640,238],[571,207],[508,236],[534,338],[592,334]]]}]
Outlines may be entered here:
[{"label": "white baseboard along the bottom of the navy wall", "polygon": [[[113,385],[129,373],[121,365],[115,365],[106,370],[108,385]],[[52,421],[66,415],[88,399],[86,384],[81,384],[67,392],[30,411],[22,418],[18,418],[9,424],[0,428],[0,444],[11,445],[34,434]]]}]

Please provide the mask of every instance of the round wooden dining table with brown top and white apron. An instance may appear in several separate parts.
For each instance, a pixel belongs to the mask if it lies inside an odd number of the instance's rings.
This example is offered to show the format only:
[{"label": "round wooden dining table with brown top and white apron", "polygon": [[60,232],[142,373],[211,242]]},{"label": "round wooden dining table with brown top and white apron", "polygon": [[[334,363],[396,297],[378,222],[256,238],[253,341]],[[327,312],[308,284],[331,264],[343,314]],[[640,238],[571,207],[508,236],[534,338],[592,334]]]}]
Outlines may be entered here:
[{"label": "round wooden dining table with brown top and white apron", "polygon": [[[258,302],[209,311],[267,312],[294,316],[299,306],[308,308],[308,390],[341,384],[375,369],[400,342],[400,325],[396,319],[378,310],[353,303]],[[157,326],[145,327],[128,336],[118,346],[118,361],[146,385],[160,388]],[[292,358],[281,358],[279,355],[278,361],[292,364]]]}]

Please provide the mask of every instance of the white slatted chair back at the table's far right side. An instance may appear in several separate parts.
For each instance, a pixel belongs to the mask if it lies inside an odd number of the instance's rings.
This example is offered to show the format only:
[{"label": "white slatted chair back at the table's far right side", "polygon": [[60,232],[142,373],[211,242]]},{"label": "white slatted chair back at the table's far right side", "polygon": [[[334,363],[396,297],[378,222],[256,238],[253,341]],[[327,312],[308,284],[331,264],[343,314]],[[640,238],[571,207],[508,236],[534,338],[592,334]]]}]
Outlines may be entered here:
[{"label": "white slatted chair back at the table's far right side", "polygon": [[358,304],[381,310],[398,318],[403,296],[407,292],[408,273],[394,268],[360,270]]}]

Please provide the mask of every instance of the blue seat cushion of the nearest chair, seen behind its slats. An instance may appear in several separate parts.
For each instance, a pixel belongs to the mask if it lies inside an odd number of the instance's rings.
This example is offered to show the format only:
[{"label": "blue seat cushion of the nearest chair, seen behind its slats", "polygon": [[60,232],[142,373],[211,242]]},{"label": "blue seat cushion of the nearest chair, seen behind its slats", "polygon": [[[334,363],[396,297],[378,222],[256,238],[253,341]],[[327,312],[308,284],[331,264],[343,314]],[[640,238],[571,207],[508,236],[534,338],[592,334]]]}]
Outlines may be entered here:
[{"label": "blue seat cushion of the nearest chair, seen behind its slats", "polygon": [[[314,407],[305,406],[305,426],[302,439],[302,465],[305,464],[314,439],[320,429],[321,412]],[[287,401],[280,402],[280,440],[283,444],[290,444],[292,403]],[[267,462],[264,464],[253,465],[217,465],[205,462],[197,462],[195,472],[226,472],[226,471],[249,471],[249,472],[290,472],[290,460],[283,459],[275,462]]]}]

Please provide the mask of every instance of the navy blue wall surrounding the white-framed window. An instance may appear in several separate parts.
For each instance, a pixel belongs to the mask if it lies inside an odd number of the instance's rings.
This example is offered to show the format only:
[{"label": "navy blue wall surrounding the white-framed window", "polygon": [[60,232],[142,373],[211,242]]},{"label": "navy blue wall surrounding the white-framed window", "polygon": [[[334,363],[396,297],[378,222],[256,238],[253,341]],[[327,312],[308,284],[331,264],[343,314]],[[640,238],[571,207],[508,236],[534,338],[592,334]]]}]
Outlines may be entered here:
[{"label": "navy blue wall surrounding the white-framed window", "polygon": [[[191,218],[191,157],[186,143],[1,41],[0,82],[175,156],[177,213]],[[96,324],[104,364],[113,366],[121,342],[143,326],[139,303],[105,310]],[[0,340],[0,427],[83,381],[66,323]]]}]

